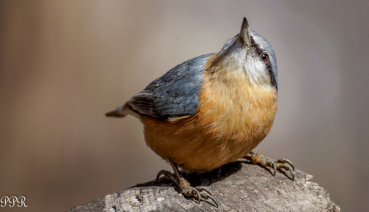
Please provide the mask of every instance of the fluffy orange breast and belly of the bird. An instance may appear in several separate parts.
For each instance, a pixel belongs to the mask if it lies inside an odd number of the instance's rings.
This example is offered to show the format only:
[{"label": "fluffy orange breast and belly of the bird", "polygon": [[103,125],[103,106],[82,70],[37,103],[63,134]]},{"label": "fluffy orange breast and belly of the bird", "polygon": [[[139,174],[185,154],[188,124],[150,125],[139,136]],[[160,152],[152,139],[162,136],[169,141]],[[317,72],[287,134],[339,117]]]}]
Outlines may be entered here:
[{"label": "fluffy orange breast and belly of the bird", "polygon": [[227,80],[207,74],[195,115],[143,120],[146,144],[184,170],[210,171],[244,157],[265,138],[277,109],[275,88],[256,85],[242,72]]}]

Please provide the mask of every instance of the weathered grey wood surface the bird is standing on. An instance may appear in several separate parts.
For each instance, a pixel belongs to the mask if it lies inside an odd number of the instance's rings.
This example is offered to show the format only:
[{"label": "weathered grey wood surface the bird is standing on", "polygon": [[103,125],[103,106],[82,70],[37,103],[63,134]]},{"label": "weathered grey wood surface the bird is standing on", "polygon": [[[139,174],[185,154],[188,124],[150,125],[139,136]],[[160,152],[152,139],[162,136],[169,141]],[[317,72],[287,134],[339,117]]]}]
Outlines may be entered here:
[{"label": "weathered grey wood surface the bird is standing on", "polygon": [[182,173],[192,186],[212,192],[211,200],[185,197],[174,183],[161,178],[105,195],[70,212],[82,211],[341,211],[313,176],[296,170],[295,181],[277,172],[273,177],[257,165],[235,162],[211,172]]}]

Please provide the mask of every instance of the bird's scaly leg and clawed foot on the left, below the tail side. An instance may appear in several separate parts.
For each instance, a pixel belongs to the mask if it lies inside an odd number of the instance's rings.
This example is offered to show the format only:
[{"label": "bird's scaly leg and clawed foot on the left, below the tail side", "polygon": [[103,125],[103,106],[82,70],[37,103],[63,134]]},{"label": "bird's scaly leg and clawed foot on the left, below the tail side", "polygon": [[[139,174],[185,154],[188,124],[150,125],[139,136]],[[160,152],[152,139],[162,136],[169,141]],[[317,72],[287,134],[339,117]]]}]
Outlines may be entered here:
[{"label": "bird's scaly leg and clawed foot on the left, below the tail side", "polygon": [[[169,162],[170,162],[170,165],[172,165],[175,175],[173,175],[169,171],[161,170],[159,171],[158,175],[156,175],[156,181],[158,181],[160,175],[163,174],[164,178],[175,182],[178,185],[178,187],[182,190],[183,194],[186,195],[187,197],[194,197],[195,199],[198,199],[199,204],[200,204],[201,198],[211,199],[214,201],[215,205],[217,205],[218,207],[218,203],[217,201],[215,201],[210,191],[200,186],[191,187],[190,183],[180,175],[177,165],[172,160],[170,160]],[[202,192],[202,191],[205,191],[205,192]]]}]

